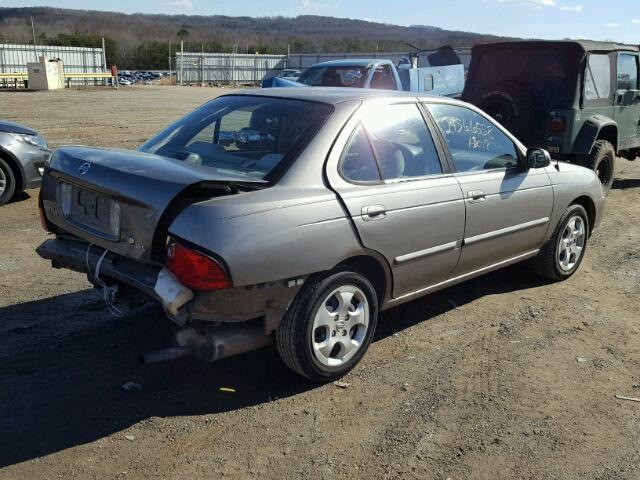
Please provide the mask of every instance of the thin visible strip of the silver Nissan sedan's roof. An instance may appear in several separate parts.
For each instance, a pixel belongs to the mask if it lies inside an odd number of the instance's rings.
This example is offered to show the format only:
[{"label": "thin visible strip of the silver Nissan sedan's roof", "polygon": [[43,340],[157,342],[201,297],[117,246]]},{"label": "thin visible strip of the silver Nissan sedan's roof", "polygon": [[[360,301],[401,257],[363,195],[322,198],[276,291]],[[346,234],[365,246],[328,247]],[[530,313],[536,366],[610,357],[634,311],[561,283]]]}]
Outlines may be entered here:
[{"label": "thin visible strip of the silver Nissan sedan's roof", "polygon": [[[306,100],[335,105],[342,102],[365,100],[368,98],[416,98],[418,95],[412,92],[400,92],[395,90],[376,90],[372,88],[345,88],[345,87],[277,87],[277,88],[252,88],[239,90],[228,95],[252,95],[271,98],[290,98],[293,100]],[[422,97],[440,98],[435,95],[419,95]]]}]

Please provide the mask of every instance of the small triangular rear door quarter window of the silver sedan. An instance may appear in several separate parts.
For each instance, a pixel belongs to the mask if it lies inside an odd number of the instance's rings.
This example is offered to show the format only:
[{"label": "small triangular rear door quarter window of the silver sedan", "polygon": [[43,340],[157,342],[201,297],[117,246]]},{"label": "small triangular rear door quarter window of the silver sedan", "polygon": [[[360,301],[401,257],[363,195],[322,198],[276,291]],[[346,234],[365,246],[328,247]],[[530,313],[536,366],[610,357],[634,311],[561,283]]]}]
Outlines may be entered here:
[{"label": "small triangular rear door quarter window of the silver sedan", "polygon": [[355,183],[380,182],[380,172],[362,125],[355,129],[338,164],[340,174]]}]

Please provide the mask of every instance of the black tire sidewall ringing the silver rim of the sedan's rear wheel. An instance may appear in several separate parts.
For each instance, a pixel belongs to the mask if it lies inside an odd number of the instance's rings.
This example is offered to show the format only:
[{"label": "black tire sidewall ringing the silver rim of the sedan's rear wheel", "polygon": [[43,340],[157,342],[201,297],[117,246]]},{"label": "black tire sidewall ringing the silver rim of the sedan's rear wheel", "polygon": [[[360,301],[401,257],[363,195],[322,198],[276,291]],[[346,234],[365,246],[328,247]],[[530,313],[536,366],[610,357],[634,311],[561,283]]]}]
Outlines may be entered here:
[{"label": "black tire sidewall ringing the silver rim of the sedan's rear wheel", "polygon": [[[351,370],[364,356],[373,335],[378,319],[378,300],[376,297],[375,289],[371,283],[362,275],[354,271],[342,271],[318,280],[321,283],[320,288],[316,289],[314,293],[301,305],[298,314],[303,317],[298,320],[304,322],[304,327],[300,329],[302,333],[302,339],[298,339],[301,358],[304,365],[310,370],[310,377],[314,379],[322,379],[325,381],[334,380],[345,375]],[[313,320],[317,310],[322,306],[326,299],[326,296],[341,285],[351,284],[360,288],[367,297],[369,303],[369,327],[367,334],[362,342],[362,346],[350,358],[347,362],[336,367],[329,367],[322,364],[315,356],[312,346],[313,338]]]}]

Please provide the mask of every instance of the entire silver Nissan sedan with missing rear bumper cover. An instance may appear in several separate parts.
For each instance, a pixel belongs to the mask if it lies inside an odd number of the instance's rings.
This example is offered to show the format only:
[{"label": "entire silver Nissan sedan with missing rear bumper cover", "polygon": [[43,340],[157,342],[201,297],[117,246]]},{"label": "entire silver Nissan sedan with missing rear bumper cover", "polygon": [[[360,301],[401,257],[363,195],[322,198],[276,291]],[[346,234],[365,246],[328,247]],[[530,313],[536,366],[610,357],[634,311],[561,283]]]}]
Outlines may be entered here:
[{"label": "entire silver Nissan sedan with missing rear bumper cover", "polygon": [[162,304],[177,346],[143,361],[275,342],[325,382],[362,358],[382,310],[524,260],[570,277],[603,204],[594,172],[466,103],[269,89],[219,97],[138,151],[55,151],[55,238],[38,252],[86,272],[115,314],[131,287]]}]

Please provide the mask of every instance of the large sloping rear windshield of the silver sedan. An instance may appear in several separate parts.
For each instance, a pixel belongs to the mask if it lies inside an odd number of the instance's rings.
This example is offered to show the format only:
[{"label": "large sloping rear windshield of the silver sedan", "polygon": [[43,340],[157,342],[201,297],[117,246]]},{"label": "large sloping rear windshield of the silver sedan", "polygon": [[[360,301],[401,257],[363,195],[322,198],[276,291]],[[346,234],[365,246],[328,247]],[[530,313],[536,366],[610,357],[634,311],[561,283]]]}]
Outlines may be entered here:
[{"label": "large sloping rear windshield of the silver sedan", "polygon": [[328,105],[252,96],[224,96],[194,110],[140,150],[251,180],[293,157],[320,128]]}]

